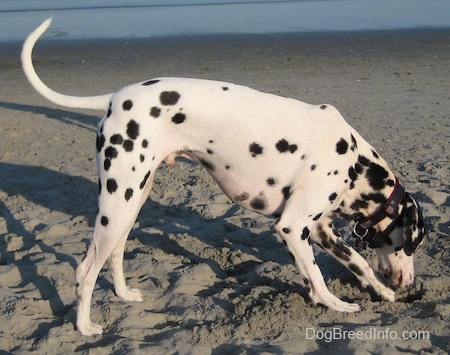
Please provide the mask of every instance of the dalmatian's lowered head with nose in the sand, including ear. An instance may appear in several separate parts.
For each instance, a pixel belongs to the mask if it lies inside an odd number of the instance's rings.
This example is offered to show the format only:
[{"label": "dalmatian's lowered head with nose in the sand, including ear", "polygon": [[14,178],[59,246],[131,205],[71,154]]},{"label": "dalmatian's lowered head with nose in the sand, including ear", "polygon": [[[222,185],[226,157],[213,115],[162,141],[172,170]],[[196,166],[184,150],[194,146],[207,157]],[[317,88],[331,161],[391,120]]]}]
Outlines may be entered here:
[{"label": "dalmatian's lowered head with nose in the sand, including ear", "polygon": [[399,217],[388,232],[378,233],[380,242],[378,271],[396,287],[406,287],[414,282],[413,253],[422,245],[427,235],[425,221],[417,201],[405,194]]}]

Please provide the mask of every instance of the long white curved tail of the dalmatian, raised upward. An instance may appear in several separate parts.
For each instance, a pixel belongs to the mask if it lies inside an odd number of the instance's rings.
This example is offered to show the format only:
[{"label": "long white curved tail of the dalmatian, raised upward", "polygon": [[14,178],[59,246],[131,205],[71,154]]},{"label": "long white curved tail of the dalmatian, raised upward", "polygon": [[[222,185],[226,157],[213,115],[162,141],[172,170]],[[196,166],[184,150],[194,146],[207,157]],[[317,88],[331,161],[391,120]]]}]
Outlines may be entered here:
[{"label": "long white curved tail of the dalmatian, raised upward", "polygon": [[60,94],[45,85],[36,74],[33,66],[33,48],[39,37],[41,37],[41,35],[47,30],[51,23],[52,18],[50,17],[33,32],[31,32],[23,44],[21,55],[22,68],[28,78],[28,81],[31,85],[33,85],[38,93],[57,105],[106,111],[113,94],[85,97]]}]

